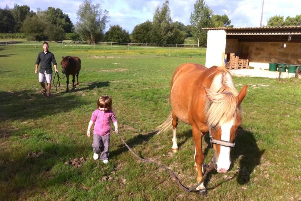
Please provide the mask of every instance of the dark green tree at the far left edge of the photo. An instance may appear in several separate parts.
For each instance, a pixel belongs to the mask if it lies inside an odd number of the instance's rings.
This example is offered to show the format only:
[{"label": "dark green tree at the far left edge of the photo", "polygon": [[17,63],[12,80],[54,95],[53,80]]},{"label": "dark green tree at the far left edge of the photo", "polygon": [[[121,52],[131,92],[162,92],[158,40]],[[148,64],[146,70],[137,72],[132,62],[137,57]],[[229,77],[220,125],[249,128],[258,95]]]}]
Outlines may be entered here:
[{"label": "dark green tree at the far left edge of the photo", "polygon": [[11,10],[6,7],[0,8],[0,33],[12,33],[14,32],[14,26],[16,22]]}]

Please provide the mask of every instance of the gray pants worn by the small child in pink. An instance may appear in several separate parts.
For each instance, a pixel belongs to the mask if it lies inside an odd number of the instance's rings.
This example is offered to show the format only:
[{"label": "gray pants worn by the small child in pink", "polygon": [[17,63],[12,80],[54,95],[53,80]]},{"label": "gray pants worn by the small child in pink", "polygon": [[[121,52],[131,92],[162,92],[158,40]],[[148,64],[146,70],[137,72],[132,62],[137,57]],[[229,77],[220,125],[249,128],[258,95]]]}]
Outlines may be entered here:
[{"label": "gray pants worn by the small child in pink", "polygon": [[109,159],[110,136],[111,135],[106,135],[106,136],[93,135],[93,143],[92,143],[93,152],[96,154],[101,153],[100,159],[102,161]]}]

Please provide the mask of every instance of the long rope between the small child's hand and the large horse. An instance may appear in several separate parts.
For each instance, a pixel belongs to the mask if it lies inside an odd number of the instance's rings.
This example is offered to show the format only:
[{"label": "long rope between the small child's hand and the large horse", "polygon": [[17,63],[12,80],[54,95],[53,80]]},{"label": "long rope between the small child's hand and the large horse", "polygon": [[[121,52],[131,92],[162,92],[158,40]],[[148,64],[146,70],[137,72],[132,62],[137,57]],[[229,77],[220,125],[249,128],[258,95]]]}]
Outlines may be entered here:
[{"label": "long rope between the small child's hand and the large horse", "polygon": [[178,179],[178,177],[175,175],[175,173],[173,173],[170,169],[168,169],[166,166],[164,166],[164,165],[161,165],[161,164],[159,164],[159,163],[157,163],[157,162],[154,162],[154,161],[149,161],[149,160],[145,160],[145,159],[142,159],[142,158],[140,158],[130,147],[129,147],[129,145],[126,143],[126,141],[120,136],[120,134],[119,133],[116,133],[119,137],[120,137],[120,139],[121,139],[121,141],[123,141],[123,143],[126,145],[126,147],[130,150],[130,152],[132,152],[132,154],[134,155],[134,156],[136,156],[136,158],[138,158],[138,159],[140,159],[140,160],[142,160],[142,161],[144,161],[144,162],[147,162],[147,163],[154,163],[154,164],[156,164],[156,165],[159,165],[161,168],[164,168],[164,169],[166,169],[174,178],[175,178],[175,180],[178,182],[178,184],[180,185],[180,187],[182,187],[185,191],[187,191],[187,192],[191,192],[192,190],[194,190],[194,189],[196,189],[198,186],[200,186],[200,184],[202,184],[203,183],[203,181],[204,181],[204,179],[206,178],[206,176],[207,176],[207,174],[208,174],[208,172],[210,171],[210,169],[212,168],[212,166],[214,165],[214,163],[211,163],[210,165],[208,165],[207,167],[206,167],[206,172],[205,172],[205,174],[203,175],[203,178],[201,179],[201,181],[197,184],[197,185],[195,185],[194,187],[192,187],[192,188],[190,188],[190,189],[188,189],[187,187],[185,187],[185,186],[183,186],[183,184],[181,184],[181,182],[179,181],[179,179]]}]

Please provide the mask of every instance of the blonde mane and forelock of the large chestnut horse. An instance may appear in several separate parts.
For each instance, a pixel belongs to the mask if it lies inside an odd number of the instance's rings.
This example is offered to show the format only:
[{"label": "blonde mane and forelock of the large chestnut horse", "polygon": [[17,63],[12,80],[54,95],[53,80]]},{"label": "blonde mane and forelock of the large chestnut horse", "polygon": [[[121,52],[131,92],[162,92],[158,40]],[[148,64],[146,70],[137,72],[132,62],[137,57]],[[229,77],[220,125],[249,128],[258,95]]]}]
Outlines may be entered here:
[{"label": "blonde mane and forelock of the large chestnut horse", "polygon": [[207,101],[204,112],[209,127],[219,128],[222,124],[236,120],[240,114],[237,107],[237,90],[232,82],[231,74],[225,68],[218,68],[218,73],[213,78],[207,90]]}]

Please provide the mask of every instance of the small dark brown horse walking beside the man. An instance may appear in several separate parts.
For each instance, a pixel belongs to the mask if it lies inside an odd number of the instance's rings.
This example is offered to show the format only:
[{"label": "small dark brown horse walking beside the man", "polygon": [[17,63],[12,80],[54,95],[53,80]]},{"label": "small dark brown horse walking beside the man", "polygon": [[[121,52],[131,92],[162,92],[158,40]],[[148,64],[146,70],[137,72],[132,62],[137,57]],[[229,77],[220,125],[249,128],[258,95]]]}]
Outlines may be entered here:
[{"label": "small dark brown horse walking beside the man", "polygon": [[67,77],[67,90],[69,91],[69,75],[72,75],[72,89],[75,89],[75,74],[76,74],[76,85],[79,84],[78,82],[78,74],[81,68],[81,60],[78,57],[73,57],[73,56],[67,56],[63,57],[61,61],[62,65],[62,73],[66,74]]}]

